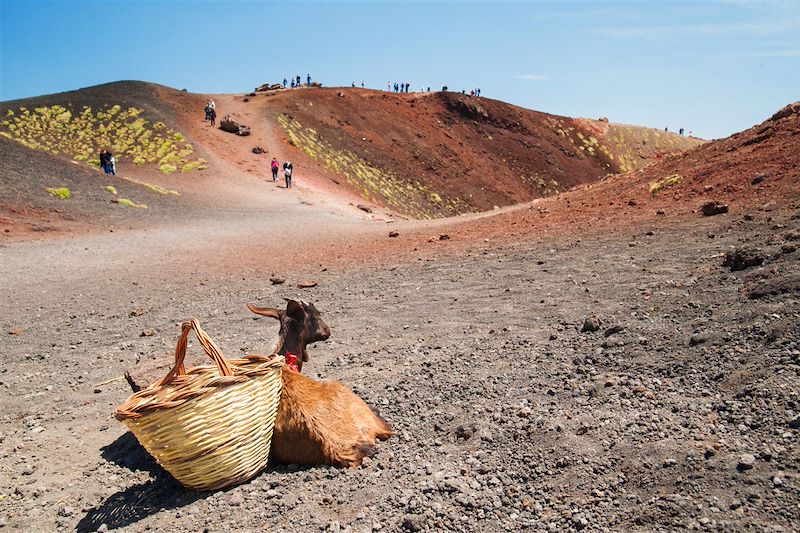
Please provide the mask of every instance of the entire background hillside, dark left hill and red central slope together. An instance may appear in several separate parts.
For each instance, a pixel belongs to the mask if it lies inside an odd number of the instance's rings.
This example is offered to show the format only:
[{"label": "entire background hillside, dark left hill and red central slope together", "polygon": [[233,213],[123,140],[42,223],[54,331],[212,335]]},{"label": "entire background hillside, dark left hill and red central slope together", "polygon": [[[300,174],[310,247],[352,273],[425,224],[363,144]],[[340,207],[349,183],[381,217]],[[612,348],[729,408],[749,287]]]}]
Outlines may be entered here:
[{"label": "entire background hillside, dark left hill and red central slope together", "polygon": [[[253,206],[269,192],[273,155],[295,163],[301,190],[441,217],[552,196],[702,143],[449,92],[302,88],[213,97],[220,119],[234,113],[252,135],[204,123],[207,95],[144,82],[0,103],[0,217],[29,229],[81,220],[103,227],[184,217],[198,204]],[[97,168],[106,146],[119,162],[117,178]]]}]

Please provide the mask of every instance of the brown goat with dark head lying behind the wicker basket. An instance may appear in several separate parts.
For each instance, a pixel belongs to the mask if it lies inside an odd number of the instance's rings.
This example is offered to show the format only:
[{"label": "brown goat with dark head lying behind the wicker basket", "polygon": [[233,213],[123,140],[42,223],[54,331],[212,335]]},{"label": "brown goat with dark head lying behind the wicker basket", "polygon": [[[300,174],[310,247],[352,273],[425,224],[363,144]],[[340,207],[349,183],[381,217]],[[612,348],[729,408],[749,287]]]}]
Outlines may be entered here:
[{"label": "brown goat with dark head lying behind the wicker basket", "polygon": [[[376,439],[392,430],[364,400],[338,381],[314,381],[300,373],[308,361],[306,345],[330,336],[314,304],[286,300],[286,310],[247,307],[253,313],[280,321],[274,353],[283,367],[283,391],[275,419],[270,456],[281,463],[358,466],[372,453]],[[297,360],[295,364],[292,364]]]}]

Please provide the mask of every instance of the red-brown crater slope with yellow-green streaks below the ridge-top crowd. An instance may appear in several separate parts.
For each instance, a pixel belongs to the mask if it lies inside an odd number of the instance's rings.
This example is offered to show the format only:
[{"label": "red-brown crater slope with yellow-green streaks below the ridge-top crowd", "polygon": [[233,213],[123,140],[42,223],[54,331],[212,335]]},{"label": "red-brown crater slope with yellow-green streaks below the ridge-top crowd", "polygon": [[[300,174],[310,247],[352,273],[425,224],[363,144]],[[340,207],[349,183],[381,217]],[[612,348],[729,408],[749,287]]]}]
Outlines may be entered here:
[{"label": "red-brown crater slope with yellow-green streaks below the ridge-top crowd", "polygon": [[299,157],[315,160],[365,199],[420,218],[557,194],[702,142],[451,92],[302,89],[267,96],[266,111],[278,113]]}]

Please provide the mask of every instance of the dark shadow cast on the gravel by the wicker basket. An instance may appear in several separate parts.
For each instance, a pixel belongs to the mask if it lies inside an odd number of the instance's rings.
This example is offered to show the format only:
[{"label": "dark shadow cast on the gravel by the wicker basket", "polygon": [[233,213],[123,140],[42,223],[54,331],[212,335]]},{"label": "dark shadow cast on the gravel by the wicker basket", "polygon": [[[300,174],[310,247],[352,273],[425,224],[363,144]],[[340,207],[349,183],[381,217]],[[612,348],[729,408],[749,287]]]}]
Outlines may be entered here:
[{"label": "dark shadow cast on the gravel by the wicker basket", "polygon": [[136,437],[127,432],[101,449],[101,457],[131,471],[146,471],[153,479],[128,487],[109,496],[90,509],[76,531],[97,531],[105,524],[109,530],[135,524],[166,509],[176,509],[204,498],[207,494],[187,490],[142,448]]}]

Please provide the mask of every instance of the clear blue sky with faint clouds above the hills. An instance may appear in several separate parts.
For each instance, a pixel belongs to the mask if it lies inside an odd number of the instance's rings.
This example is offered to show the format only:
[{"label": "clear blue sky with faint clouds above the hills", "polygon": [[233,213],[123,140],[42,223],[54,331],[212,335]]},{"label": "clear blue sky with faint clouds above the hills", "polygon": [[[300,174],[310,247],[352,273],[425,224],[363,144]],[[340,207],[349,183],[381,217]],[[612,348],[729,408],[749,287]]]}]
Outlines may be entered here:
[{"label": "clear blue sky with faint clouds above the hills", "polygon": [[800,2],[15,2],[0,100],[120,79],[408,81],[716,138],[800,99]]}]

